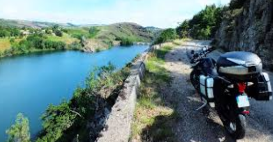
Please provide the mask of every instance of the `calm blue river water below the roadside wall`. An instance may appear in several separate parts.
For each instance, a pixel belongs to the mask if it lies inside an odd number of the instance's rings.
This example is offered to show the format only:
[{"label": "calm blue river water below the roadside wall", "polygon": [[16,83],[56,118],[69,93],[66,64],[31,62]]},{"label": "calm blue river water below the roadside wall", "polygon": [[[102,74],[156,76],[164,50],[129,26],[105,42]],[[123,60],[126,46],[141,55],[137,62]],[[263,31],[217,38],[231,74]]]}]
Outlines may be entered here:
[{"label": "calm blue river water below the roadside wall", "polygon": [[31,134],[41,129],[40,116],[49,104],[70,99],[94,67],[111,61],[118,69],[147,46],[114,47],[100,53],[75,51],[35,53],[0,59],[0,142],[18,113],[30,121]]}]

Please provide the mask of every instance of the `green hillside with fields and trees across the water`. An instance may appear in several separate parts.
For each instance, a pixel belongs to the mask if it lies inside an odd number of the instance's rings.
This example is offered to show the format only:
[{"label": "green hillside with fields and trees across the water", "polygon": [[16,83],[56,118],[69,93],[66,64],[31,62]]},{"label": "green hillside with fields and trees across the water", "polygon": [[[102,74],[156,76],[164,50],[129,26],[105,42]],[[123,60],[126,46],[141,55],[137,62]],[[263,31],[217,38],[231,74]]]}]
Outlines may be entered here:
[{"label": "green hillside with fields and trees across the water", "polygon": [[57,49],[96,52],[134,42],[151,43],[158,31],[135,23],[76,26],[0,19],[0,56]]}]

